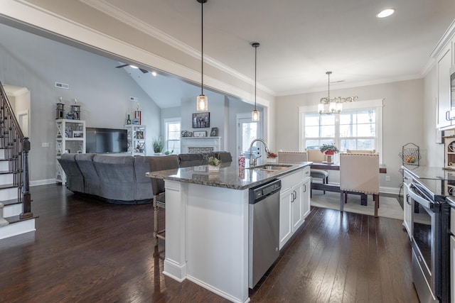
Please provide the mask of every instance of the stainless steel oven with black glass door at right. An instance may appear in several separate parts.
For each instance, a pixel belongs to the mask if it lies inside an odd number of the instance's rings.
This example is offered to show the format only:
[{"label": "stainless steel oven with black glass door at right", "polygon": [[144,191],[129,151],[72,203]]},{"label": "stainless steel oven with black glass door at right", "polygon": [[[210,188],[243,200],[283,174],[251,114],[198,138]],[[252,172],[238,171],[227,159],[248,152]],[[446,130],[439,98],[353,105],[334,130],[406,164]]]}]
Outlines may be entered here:
[{"label": "stainless steel oven with black glass door at right", "polygon": [[423,184],[409,187],[412,213],[412,282],[420,302],[441,299],[441,203]]}]

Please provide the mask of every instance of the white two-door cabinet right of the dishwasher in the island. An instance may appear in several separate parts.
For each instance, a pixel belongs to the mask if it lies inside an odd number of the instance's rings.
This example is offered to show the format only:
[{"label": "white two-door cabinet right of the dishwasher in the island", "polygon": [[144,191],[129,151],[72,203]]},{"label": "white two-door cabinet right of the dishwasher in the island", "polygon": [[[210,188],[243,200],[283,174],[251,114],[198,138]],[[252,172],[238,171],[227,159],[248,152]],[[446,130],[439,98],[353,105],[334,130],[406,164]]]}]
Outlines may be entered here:
[{"label": "white two-door cabinet right of the dishwasher in the island", "polygon": [[282,180],[279,196],[279,249],[282,249],[309,214],[309,167],[279,179]]}]

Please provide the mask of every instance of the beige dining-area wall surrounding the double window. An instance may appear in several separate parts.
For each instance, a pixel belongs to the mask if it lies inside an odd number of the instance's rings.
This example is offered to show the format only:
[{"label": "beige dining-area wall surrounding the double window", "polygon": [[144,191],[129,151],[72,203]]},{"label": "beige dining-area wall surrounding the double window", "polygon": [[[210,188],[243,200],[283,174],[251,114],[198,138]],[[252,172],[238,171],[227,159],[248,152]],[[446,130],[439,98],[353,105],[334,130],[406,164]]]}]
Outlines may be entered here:
[{"label": "beige dining-area wall surrounding the double window", "polygon": [[[315,106],[327,92],[277,97],[275,128],[277,150],[299,149],[299,106]],[[397,189],[401,184],[399,154],[402,145],[414,143],[422,150],[424,165],[428,148],[424,145],[424,79],[377,84],[349,89],[333,89],[331,96],[358,96],[358,100],[384,99],[383,162],[390,182],[380,176],[381,187]]]}]

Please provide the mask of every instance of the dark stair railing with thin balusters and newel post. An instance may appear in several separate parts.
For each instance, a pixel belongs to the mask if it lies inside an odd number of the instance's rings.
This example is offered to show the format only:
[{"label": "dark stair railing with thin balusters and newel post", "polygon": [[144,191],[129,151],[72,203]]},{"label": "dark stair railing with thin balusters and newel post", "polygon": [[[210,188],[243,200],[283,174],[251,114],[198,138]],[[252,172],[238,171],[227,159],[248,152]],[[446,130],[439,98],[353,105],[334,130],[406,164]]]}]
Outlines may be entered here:
[{"label": "dark stair railing with thin balusters and newel post", "polygon": [[6,97],[0,82],[0,140],[5,150],[5,159],[9,162],[9,171],[14,172],[13,184],[18,188],[18,202],[22,203],[21,219],[33,217],[31,212],[31,194],[29,181],[28,152],[30,141],[23,132],[14,115],[13,108]]}]

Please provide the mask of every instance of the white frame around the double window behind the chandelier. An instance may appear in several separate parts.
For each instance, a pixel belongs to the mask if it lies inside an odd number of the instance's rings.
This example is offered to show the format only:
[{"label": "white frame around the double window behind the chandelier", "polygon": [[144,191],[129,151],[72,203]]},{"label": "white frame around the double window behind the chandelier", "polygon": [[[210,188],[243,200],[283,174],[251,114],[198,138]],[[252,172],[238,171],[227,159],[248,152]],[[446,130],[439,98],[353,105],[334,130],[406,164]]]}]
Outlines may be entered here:
[{"label": "white frame around the double window behind the chandelier", "polygon": [[[382,108],[384,99],[374,99],[366,101],[353,101],[350,103],[343,103],[343,111],[354,110],[368,110],[374,109],[376,112],[376,152],[379,153],[380,162],[382,162]],[[299,106],[299,150],[305,150],[305,114],[317,114],[317,106]],[[338,114],[335,115],[335,144],[340,146],[340,118]]]}]

